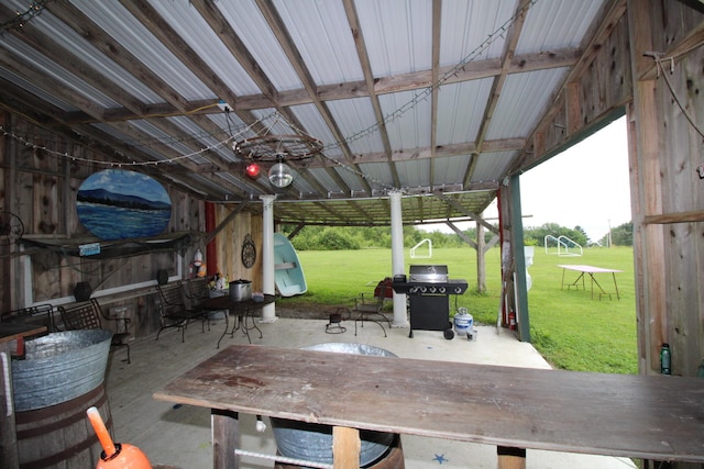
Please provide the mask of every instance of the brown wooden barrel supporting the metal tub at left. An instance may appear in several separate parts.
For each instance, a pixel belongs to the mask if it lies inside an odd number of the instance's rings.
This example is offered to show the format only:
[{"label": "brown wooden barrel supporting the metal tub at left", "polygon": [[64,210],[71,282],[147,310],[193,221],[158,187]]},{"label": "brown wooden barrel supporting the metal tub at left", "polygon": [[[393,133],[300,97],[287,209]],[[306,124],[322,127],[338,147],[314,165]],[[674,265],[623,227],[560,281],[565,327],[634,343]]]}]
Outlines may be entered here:
[{"label": "brown wooden barrel supporting the metal tub at left", "polygon": [[112,432],[112,415],[103,383],[61,404],[18,412],[20,469],[95,468],[102,447],[86,416],[88,407],[94,405],[108,431]]}]

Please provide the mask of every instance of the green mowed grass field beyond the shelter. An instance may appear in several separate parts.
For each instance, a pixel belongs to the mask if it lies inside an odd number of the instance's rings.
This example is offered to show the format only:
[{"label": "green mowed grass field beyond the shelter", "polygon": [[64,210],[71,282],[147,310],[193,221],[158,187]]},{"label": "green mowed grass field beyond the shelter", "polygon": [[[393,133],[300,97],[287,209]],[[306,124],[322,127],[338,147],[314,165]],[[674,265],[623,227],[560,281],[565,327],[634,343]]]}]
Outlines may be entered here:
[{"label": "green mowed grass field beyond the shelter", "polygon": [[[299,252],[308,282],[308,293],[284,299],[284,304],[306,303],[352,305],[360,292],[372,292],[377,281],[391,275],[391,249]],[[410,264],[447,265],[451,278],[470,283],[468,292],[451,297],[452,312],[465,306],[476,322],[496,324],[501,297],[499,250],[486,256],[485,293],[476,292],[476,253],[471,248],[436,248],[430,259],[410,259]],[[559,264],[582,264],[623,270],[616,273],[620,300],[615,295],[598,299],[586,290],[561,289]],[[408,270],[408,268],[406,268]],[[534,265],[528,269],[532,288],[528,292],[530,333],[535,347],[553,367],[569,370],[637,373],[636,302],[632,249],[630,247],[585,248],[583,256],[558,257],[536,247]],[[578,272],[568,271],[565,283]],[[597,273],[597,281],[614,291],[610,273]],[[595,287],[596,288],[596,287]]]}]

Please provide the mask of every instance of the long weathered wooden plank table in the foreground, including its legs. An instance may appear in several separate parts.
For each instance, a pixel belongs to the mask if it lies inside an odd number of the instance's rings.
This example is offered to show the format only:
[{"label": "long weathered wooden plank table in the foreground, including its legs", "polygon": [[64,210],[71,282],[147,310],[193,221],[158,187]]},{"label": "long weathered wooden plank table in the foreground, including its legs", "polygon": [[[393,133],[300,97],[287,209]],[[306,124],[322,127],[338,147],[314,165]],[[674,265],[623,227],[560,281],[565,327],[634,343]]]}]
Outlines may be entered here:
[{"label": "long weathered wooden plank table in the foreground, including its legs", "polygon": [[230,346],[154,398],[211,409],[218,469],[239,467],[239,412],[332,425],[336,469],[360,428],[495,445],[499,469],[525,448],[704,462],[697,378]]}]

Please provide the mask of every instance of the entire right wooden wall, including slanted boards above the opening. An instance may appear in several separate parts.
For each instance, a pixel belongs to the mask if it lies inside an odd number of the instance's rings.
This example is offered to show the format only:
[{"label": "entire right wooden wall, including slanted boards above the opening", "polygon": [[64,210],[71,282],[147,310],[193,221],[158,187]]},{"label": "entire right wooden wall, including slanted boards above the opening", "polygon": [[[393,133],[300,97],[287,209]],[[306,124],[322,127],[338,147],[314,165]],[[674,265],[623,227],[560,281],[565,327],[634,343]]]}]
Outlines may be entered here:
[{"label": "entire right wooden wall, including slanted boards above the opening", "polygon": [[[669,343],[673,372],[693,376],[704,358],[704,14],[676,0],[614,0],[604,15],[581,45],[593,60],[556,97],[522,161],[627,114],[640,372],[660,372]],[[660,72],[652,53],[667,62]]]}]

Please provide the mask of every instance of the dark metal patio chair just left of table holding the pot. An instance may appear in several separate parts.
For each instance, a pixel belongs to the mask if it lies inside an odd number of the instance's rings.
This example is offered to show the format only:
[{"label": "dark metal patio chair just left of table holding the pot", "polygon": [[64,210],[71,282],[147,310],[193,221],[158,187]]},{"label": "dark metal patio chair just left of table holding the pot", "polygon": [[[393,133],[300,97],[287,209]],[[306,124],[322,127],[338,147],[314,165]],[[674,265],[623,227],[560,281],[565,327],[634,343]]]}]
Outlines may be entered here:
[{"label": "dark metal patio chair just left of table holding the pot", "polygon": [[[186,302],[186,292],[180,282],[175,284],[156,286],[158,293],[158,314],[162,327],[156,333],[156,340],[165,328],[180,330],[180,342],[186,342],[186,327],[190,322],[200,320],[202,332],[206,332],[205,322],[208,320],[208,311]],[[210,328],[210,324],[208,324]]]}]

